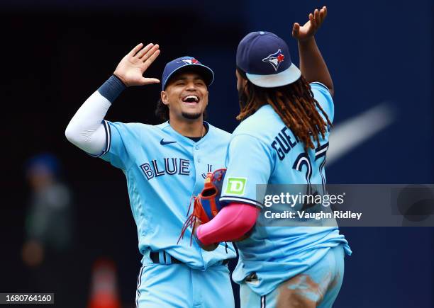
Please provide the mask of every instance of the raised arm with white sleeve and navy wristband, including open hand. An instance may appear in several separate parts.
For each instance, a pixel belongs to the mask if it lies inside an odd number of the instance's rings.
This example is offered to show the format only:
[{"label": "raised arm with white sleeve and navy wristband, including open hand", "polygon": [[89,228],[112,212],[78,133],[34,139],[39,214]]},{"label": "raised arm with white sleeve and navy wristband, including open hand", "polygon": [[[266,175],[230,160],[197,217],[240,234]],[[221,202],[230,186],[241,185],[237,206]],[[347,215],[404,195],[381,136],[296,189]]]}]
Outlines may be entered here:
[{"label": "raised arm with white sleeve and navy wristband, including open hand", "polygon": [[66,130],[65,136],[72,144],[92,155],[104,154],[107,137],[102,124],[111,103],[127,86],[144,86],[160,81],[143,76],[146,69],[160,55],[158,45],[139,44],[123,57],[113,76],[93,93],[77,110]]}]

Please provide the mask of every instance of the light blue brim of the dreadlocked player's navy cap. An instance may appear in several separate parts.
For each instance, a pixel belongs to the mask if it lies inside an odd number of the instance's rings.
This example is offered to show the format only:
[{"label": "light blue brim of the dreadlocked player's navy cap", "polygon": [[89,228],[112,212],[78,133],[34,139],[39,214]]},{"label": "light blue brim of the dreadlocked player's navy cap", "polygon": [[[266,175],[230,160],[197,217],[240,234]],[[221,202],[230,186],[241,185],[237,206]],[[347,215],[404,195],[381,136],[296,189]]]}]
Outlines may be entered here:
[{"label": "light blue brim of the dreadlocked player's navy cap", "polygon": [[290,67],[283,72],[271,75],[257,75],[246,73],[247,79],[249,79],[255,86],[262,88],[276,88],[277,86],[286,86],[299,80],[301,72],[298,67],[291,64]]}]

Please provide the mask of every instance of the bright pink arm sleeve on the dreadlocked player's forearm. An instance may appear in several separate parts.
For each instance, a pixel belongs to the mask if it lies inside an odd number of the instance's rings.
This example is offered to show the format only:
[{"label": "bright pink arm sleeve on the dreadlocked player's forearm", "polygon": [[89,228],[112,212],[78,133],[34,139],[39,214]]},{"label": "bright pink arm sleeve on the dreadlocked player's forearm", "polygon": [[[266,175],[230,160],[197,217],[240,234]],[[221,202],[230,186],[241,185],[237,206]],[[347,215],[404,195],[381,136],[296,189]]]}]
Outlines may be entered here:
[{"label": "bright pink arm sleeve on the dreadlocked player's forearm", "polygon": [[238,239],[252,229],[259,211],[252,205],[230,203],[211,222],[196,229],[197,238],[204,245]]}]

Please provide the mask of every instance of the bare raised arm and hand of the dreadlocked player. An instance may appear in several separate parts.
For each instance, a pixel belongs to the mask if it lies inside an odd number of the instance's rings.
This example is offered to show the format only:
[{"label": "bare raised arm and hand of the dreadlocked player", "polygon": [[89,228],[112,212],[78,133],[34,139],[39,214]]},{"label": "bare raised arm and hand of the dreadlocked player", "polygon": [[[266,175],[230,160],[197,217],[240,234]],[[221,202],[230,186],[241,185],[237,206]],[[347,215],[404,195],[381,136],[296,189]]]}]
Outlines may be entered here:
[{"label": "bare raised arm and hand of the dreadlocked player", "polygon": [[310,13],[309,20],[303,26],[299,23],[294,23],[292,28],[292,36],[299,42],[300,55],[300,70],[306,81],[319,81],[328,87],[333,96],[333,81],[328,72],[327,64],[321,55],[315,41],[315,33],[321,27],[325,16],[327,16],[327,8],[323,6],[320,11],[316,9]]}]

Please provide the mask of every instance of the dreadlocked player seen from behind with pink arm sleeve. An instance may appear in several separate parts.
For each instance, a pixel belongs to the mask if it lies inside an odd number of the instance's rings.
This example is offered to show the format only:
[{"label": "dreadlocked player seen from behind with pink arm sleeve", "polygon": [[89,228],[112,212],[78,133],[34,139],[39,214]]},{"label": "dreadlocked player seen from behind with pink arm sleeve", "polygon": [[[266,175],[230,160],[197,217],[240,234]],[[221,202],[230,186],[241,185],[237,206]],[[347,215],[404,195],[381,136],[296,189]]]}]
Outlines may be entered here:
[{"label": "dreadlocked player seen from behind with pink arm sleeve", "polygon": [[313,35],[326,13],[323,7],[305,25],[294,24],[300,69],[273,33],[249,33],[238,45],[243,122],[228,146],[220,198],[226,207],[196,228],[196,239],[209,246],[253,228],[237,243],[233,280],[240,284],[242,307],[331,307],[343,281],[344,251],[351,251],[338,227],[255,224],[263,207],[256,184],[325,182],[333,82]]}]

